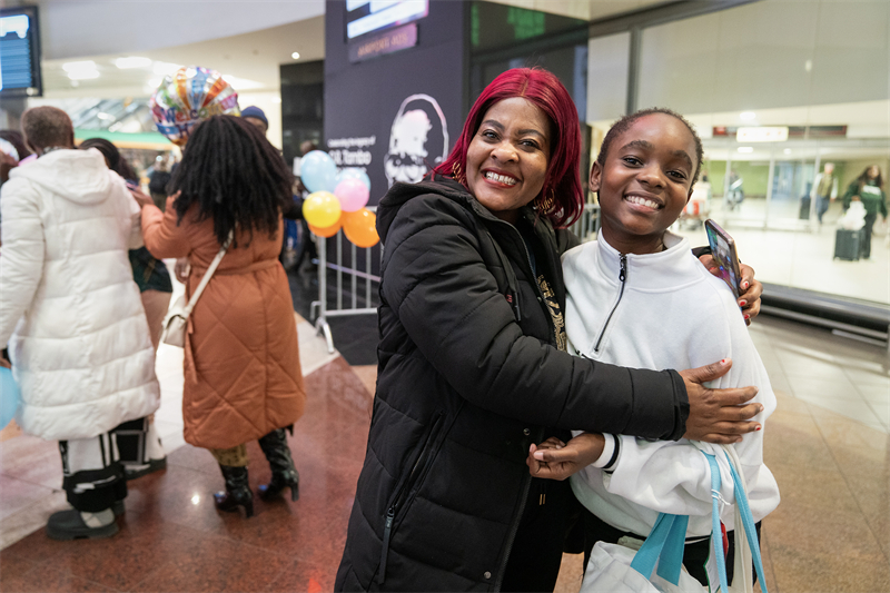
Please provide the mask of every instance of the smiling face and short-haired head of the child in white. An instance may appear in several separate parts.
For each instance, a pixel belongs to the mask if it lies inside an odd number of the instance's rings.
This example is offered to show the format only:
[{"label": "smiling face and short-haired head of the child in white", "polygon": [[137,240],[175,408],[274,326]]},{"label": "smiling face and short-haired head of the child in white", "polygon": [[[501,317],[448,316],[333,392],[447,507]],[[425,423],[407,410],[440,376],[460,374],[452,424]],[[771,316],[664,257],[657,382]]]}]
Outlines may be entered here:
[{"label": "smiling face and short-haired head of the child in white", "polygon": [[661,250],[664,231],[692,195],[694,175],[695,140],[682,121],[665,113],[634,121],[612,141],[605,166],[591,169],[606,241],[624,254]]}]

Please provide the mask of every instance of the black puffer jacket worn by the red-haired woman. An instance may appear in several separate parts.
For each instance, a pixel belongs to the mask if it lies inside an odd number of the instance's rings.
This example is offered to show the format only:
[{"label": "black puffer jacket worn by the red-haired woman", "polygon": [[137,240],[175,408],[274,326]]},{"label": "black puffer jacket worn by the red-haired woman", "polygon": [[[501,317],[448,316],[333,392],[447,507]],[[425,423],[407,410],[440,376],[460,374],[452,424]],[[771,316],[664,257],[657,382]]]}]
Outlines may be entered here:
[{"label": "black puffer jacket worn by the red-haired woman", "polygon": [[[534,228],[558,270],[571,234]],[[530,444],[546,427],[679,438],[683,382],[554,347],[521,235],[459,184],[396,184],[377,230],[377,394],[336,589],[498,591]]]}]

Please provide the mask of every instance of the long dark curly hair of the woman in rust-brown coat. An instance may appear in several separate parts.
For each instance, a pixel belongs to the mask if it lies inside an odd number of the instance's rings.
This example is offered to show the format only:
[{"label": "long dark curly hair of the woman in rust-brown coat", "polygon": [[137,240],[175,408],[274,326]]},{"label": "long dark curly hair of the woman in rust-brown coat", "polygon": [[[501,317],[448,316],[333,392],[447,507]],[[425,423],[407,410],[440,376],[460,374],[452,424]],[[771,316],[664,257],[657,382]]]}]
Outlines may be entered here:
[{"label": "long dark curly hair of the woman in rust-brown coat", "polygon": [[[293,175],[263,132],[239,117],[214,116],[189,135],[169,191],[177,224],[197,205],[195,221],[214,220],[217,240],[229,231],[265,230],[274,238],[281,208],[291,199]],[[237,247],[237,243],[235,244]]]}]

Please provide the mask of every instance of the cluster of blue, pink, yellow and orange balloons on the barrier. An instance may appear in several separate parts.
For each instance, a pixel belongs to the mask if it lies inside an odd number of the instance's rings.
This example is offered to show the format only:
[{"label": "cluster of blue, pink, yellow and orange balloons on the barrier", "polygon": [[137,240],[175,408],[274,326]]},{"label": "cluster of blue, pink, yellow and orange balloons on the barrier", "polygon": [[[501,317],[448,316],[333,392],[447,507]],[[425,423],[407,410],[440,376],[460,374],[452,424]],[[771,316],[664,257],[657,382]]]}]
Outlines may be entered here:
[{"label": "cluster of blue, pink, yellow and orange balloons on the barrier", "polygon": [[300,178],[312,191],[303,202],[303,217],[319,237],[333,237],[340,228],[356,247],[373,247],[380,240],[377,217],[365,208],[370,179],[362,169],[343,169],[327,152],[313,150],[300,161]]}]

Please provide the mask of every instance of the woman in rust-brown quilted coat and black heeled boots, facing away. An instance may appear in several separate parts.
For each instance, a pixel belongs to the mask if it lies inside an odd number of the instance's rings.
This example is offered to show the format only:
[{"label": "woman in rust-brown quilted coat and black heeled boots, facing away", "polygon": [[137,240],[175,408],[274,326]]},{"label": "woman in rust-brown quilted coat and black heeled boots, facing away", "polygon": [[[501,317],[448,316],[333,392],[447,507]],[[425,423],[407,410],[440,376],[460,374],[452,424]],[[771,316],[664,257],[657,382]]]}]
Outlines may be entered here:
[{"label": "woman in rust-brown quilted coat and black heeled boots, facing away", "polygon": [[188,320],[185,438],[210,449],[226,480],[217,508],[253,515],[245,443],[259,439],[271,466],[268,498],[299,475],[285,427],[303,414],[305,391],[287,276],[278,263],[281,206],[290,171],[255,126],[215,116],[194,129],[174,175],[166,211],[142,207],[142,235],[155,257],[185,257],[189,297],[229,233],[234,241]]}]

